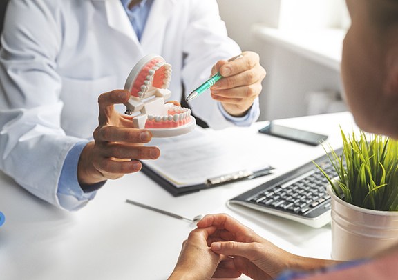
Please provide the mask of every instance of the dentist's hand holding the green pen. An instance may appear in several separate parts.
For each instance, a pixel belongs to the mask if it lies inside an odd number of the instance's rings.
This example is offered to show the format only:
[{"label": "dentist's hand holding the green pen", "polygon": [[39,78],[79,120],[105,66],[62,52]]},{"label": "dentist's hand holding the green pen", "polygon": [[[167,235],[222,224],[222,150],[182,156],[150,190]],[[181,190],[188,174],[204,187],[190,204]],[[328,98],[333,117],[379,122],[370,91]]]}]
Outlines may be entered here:
[{"label": "dentist's hand holding the green pen", "polygon": [[250,109],[263,89],[261,81],[266,74],[258,54],[243,52],[242,55],[234,61],[218,61],[211,70],[212,74],[220,72],[224,77],[211,87],[211,97],[234,117],[242,117]]}]

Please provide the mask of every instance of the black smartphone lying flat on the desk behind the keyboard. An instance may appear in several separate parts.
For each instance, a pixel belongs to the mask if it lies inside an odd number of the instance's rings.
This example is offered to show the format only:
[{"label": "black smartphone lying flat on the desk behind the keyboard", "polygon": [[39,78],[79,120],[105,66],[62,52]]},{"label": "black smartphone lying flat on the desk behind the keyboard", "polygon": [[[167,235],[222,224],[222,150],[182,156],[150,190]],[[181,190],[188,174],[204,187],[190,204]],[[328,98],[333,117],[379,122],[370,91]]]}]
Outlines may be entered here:
[{"label": "black smartphone lying flat on the desk behind the keyboard", "polygon": [[305,130],[299,130],[296,128],[289,128],[287,126],[280,126],[278,124],[270,122],[264,128],[258,130],[260,133],[281,137],[284,139],[290,139],[300,143],[305,143],[312,146],[317,146],[326,139],[328,135],[318,134]]}]

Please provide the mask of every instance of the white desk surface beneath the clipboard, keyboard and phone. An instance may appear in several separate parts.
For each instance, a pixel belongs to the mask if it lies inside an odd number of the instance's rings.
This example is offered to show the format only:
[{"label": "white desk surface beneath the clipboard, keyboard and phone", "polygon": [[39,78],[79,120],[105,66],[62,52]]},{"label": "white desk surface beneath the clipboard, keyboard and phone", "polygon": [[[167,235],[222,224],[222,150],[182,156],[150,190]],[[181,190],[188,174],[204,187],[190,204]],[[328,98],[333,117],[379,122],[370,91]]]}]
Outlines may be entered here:
[{"label": "white desk surface beneath the clipboard, keyboard and phone", "polygon": [[[338,113],[278,121],[329,135],[341,145],[339,124],[351,130],[351,114]],[[281,174],[322,155],[312,147],[258,134],[264,123],[233,128],[239,135],[257,137],[269,152],[269,163]],[[230,130],[230,129],[229,129]],[[237,134],[237,135],[238,135]],[[244,148],[244,146],[243,146]],[[34,172],[34,170],[32,170]],[[227,208],[228,199],[272,179],[274,175],[173,197],[142,173],[108,181],[97,197],[78,212],[59,210],[33,197],[0,173],[1,279],[167,279],[182,241],[194,225],[125,203],[132,199],[150,206],[194,217],[226,212],[277,246],[296,254],[330,257],[330,225],[309,228],[254,210]],[[242,277],[245,279],[245,277]]]}]

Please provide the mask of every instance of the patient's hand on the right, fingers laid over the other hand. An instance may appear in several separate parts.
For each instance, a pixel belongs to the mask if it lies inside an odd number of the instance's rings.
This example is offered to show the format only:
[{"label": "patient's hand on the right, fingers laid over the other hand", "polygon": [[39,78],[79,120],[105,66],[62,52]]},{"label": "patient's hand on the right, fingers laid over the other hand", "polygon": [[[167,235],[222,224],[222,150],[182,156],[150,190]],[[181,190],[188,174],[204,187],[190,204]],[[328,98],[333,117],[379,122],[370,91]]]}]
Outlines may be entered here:
[{"label": "patient's hand on the right, fingers laid over the other hand", "polygon": [[209,240],[222,241],[212,242],[211,250],[233,257],[234,270],[252,279],[274,279],[284,270],[313,270],[336,263],[290,254],[226,214],[207,215],[198,222],[198,228],[214,227],[217,230]]}]

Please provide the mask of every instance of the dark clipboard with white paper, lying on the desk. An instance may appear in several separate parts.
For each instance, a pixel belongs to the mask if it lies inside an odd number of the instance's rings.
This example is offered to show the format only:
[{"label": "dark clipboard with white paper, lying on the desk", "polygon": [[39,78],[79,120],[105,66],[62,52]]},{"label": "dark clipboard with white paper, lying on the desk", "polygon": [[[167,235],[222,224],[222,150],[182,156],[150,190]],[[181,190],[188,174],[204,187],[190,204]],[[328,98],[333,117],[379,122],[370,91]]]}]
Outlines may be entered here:
[{"label": "dark clipboard with white paper, lying on the desk", "polygon": [[175,197],[270,174],[274,168],[258,157],[253,143],[242,149],[242,130],[197,127],[179,137],[153,139],[150,145],[161,155],[141,161],[142,172]]}]

